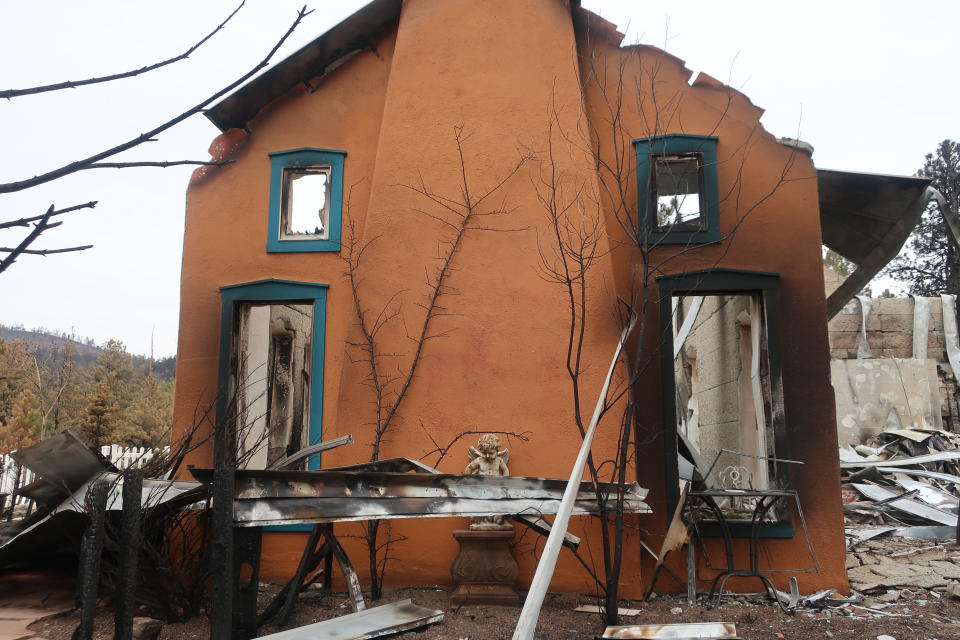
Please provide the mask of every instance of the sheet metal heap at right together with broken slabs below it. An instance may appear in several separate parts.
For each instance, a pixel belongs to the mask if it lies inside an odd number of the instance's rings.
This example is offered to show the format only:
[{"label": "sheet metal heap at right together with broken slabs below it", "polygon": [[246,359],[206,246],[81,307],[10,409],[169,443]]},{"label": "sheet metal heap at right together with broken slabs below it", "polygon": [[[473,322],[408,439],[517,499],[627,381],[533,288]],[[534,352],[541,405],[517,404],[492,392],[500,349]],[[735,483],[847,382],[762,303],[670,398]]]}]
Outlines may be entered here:
[{"label": "sheet metal heap at right together with broken slabs below it", "polygon": [[[960,435],[884,431],[841,448],[840,469],[848,614],[911,615],[960,593]],[[823,602],[836,610],[839,601]]]}]

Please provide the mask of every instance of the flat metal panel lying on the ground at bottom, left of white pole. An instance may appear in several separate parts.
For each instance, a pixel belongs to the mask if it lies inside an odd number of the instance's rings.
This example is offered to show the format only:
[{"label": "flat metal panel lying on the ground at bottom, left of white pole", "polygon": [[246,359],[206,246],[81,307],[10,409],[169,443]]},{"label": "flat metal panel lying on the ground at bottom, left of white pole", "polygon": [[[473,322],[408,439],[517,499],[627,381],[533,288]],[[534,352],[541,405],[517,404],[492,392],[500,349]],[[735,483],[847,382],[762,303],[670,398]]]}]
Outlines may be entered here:
[{"label": "flat metal panel lying on the ground at bottom, left of white pole", "polygon": [[364,640],[417,629],[441,620],[443,611],[427,609],[407,599],[262,636],[261,640]]}]

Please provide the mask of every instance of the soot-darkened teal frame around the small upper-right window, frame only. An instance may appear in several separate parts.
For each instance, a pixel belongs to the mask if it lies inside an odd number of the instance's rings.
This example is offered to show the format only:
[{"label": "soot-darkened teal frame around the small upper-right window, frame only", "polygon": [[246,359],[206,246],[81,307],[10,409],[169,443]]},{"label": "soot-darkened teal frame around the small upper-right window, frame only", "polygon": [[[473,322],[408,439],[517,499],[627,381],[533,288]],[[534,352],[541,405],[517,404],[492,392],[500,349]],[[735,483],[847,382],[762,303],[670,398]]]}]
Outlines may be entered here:
[{"label": "soot-darkened teal frame around the small upper-right window, frame only", "polygon": [[[666,134],[633,141],[637,154],[637,210],[641,240],[647,246],[709,244],[720,241],[719,180],[717,178],[717,137]],[[657,201],[653,189],[653,160],[663,156],[696,154],[700,168],[700,216],[705,228],[660,231]]]}]

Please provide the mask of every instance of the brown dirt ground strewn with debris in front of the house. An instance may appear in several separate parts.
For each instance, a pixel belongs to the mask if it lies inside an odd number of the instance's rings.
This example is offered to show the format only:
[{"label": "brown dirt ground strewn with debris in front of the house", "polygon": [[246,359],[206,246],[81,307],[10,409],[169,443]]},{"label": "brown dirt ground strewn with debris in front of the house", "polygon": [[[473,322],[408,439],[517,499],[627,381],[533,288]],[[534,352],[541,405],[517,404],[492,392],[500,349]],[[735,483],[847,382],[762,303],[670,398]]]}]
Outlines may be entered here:
[{"label": "brown dirt ground strewn with debris in front of the house", "polygon": [[[944,545],[940,545],[941,548]],[[947,545],[949,552],[957,551]],[[261,606],[276,593],[278,585],[264,585]],[[847,638],[873,640],[886,635],[896,640],[960,640],[960,599],[943,591],[923,588],[873,589],[874,595],[860,596],[859,604],[846,607],[807,608],[796,615],[786,615],[772,601],[760,596],[725,596],[718,609],[708,610],[701,597],[697,606],[688,607],[680,596],[656,596],[649,602],[621,604],[640,610],[636,616],[625,617],[622,624],[662,624],[676,622],[723,621],[733,622],[744,640],[785,639],[813,640]],[[891,593],[895,593],[894,599]],[[843,594],[848,595],[848,594]],[[446,616],[439,624],[410,631],[399,637],[411,640],[496,640],[510,638],[519,609],[514,607],[464,606],[449,602],[450,592],[437,588],[391,589],[383,603],[411,598],[414,603],[442,609]],[[834,597],[839,597],[835,594]],[[884,602],[884,600],[892,600]],[[595,638],[602,634],[604,625],[597,614],[577,613],[580,604],[593,604],[590,596],[550,595],[540,616],[536,637],[543,640],[566,638]],[[375,604],[375,603],[371,603]],[[859,608],[858,608],[859,607]],[[877,607],[883,607],[878,609]],[[325,594],[319,590],[304,593],[287,628],[306,625],[350,612],[346,594]],[[68,640],[77,625],[76,612],[54,616],[35,622],[30,631],[37,638]],[[95,638],[113,637],[113,613],[104,606],[97,619]],[[162,640],[186,640],[209,637],[206,618],[182,624],[168,624],[160,635]],[[267,627],[262,634],[278,629]]]}]

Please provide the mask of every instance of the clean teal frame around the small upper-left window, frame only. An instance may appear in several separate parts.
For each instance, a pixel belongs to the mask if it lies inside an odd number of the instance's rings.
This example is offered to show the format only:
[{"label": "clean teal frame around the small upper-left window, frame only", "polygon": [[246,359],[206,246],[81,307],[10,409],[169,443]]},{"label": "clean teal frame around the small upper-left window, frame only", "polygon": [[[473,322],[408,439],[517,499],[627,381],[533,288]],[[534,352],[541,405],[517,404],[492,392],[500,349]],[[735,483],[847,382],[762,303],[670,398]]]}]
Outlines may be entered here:
[{"label": "clean teal frame around the small upper-left window, frame only", "polygon": [[[306,253],[340,251],[340,227],[343,218],[343,165],[347,152],[337,149],[301,147],[273,151],[270,156],[270,209],[267,229],[267,253]],[[284,170],[330,167],[330,202],[327,237],[324,239],[281,240],[284,201]]]}]

